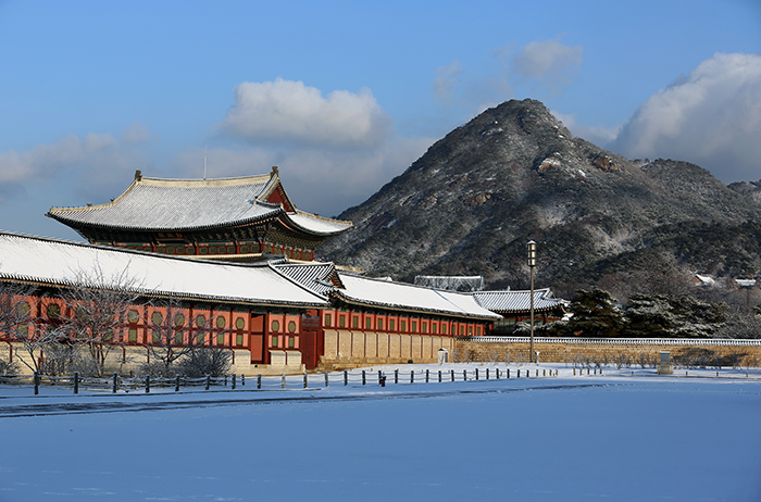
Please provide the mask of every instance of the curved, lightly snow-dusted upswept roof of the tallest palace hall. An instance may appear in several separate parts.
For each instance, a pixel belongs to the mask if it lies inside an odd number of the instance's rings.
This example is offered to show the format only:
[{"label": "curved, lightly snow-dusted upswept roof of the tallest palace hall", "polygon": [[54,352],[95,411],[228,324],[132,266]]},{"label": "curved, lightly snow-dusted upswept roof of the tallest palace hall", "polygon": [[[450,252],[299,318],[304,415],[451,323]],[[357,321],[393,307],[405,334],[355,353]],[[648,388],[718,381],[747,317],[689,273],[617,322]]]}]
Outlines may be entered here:
[{"label": "curved, lightly snow-dusted upswept roof of the tallest palace hall", "polygon": [[334,235],[351,227],[265,201],[279,177],[271,175],[222,179],[159,179],[136,176],[116,200],[83,208],[52,208],[49,216],[74,227],[122,230],[196,230],[255,223],[279,215],[316,235]]}]

